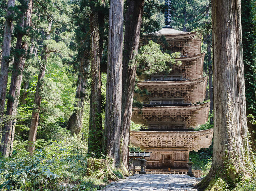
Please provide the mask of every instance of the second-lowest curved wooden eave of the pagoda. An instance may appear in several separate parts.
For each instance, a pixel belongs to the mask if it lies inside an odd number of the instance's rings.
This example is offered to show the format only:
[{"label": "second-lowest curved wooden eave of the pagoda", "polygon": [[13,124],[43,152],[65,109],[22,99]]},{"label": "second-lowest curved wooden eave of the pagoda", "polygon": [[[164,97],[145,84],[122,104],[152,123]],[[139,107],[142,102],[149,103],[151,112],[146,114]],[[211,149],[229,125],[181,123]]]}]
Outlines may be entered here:
[{"label": "second-lowest curved wooden eave of the pagoda", "polygon": [[147,124],[147,116],[171,116],[173,113],[192,113],[191,125],[196,127],[208,121],[210,102],[190,106],[133,107],[131,120],[135,124]]}]

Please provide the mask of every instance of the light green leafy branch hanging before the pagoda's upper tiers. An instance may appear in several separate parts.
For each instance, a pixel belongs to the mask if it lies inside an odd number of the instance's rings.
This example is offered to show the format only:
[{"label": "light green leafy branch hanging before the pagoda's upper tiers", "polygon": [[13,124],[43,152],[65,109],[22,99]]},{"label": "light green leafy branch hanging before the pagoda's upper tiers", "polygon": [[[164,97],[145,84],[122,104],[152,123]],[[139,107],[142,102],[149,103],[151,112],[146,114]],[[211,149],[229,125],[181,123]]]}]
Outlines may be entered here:
[{"label": "light green leafy branch hanging before the pagoda's upper tiers", "polygon": [[175,52],[170,54],[162,53],[160,45],[150,40],[147,45],[142,46],[136,57],[131,60],[130,64],[137,63],[140,69],[143,69],[144,74],[150,76],[152,74],[165,73],[171,71],[171,65],[181,65],[181,62],[175,62],[176,57],[180,57],[180,53]]}]

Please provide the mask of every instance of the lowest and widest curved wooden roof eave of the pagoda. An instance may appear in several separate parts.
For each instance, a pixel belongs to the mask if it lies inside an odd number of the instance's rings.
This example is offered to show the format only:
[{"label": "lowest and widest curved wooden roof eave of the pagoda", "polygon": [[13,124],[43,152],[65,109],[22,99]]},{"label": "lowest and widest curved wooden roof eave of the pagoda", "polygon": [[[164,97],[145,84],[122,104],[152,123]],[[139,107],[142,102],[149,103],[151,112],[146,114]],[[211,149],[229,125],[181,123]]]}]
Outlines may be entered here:
[{"label": "lowest and widest curved wooden roof eave of the pagoda", "polygon": [[198,151],[212,144],[213,128],[193,132],[130,131],[130,142],[146,150]]}]

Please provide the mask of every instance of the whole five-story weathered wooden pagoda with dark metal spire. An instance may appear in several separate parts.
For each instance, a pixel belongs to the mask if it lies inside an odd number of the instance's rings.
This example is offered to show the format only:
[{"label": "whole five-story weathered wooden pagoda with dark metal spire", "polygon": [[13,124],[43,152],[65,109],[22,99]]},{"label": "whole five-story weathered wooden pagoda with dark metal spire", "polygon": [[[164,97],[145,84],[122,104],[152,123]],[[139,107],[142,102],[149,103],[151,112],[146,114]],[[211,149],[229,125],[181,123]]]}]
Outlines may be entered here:
[{"label": "whole five-story weathered wooden pagoda with dark metal spire", "polygon": [[[210,103],[196,104],[205,99],[207,76],[203,77],[201,38],[197,32],[174,30],[170,26],[170,1],[166,1],[166,26],[150,33],[145,39],[154,39],[164,50],[181,52],[182,65],[173,66],[168,75],[156,74],[149,78],[138,76],[138,87],[147,95],[135,94],[143,107],[132,109],[132,121],[142,124],[140,131],[130,132],[130,142],[151,152],[147,171],[187,169],[190,151],[209,147],[213,129],[194,131],[194,127],[208,120]],[[164,39],[164,40],[163,40]]]}]

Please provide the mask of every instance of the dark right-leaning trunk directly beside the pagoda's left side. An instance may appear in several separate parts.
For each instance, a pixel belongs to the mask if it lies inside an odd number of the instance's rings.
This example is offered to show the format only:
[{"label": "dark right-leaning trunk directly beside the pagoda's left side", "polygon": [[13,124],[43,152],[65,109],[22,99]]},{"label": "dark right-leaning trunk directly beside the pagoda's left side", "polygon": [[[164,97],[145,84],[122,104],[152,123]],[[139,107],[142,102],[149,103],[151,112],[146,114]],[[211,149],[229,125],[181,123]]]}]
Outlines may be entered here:
[{"label": "dark right-leaning trunk directly beside the pagoda's left side", "polygon": [[128,145],[130,138],[130,123],[132,100],[134,93],[136,65],[130,65],[130,61],[138,53],[140,26],[144,0],[127,0],[127,12],[125,15],[125,36],[124,36],[124,53],[123,53],[123,82],[122,82],[122,122],[121,138],[122,144],[122,161],[128,170]]}]

